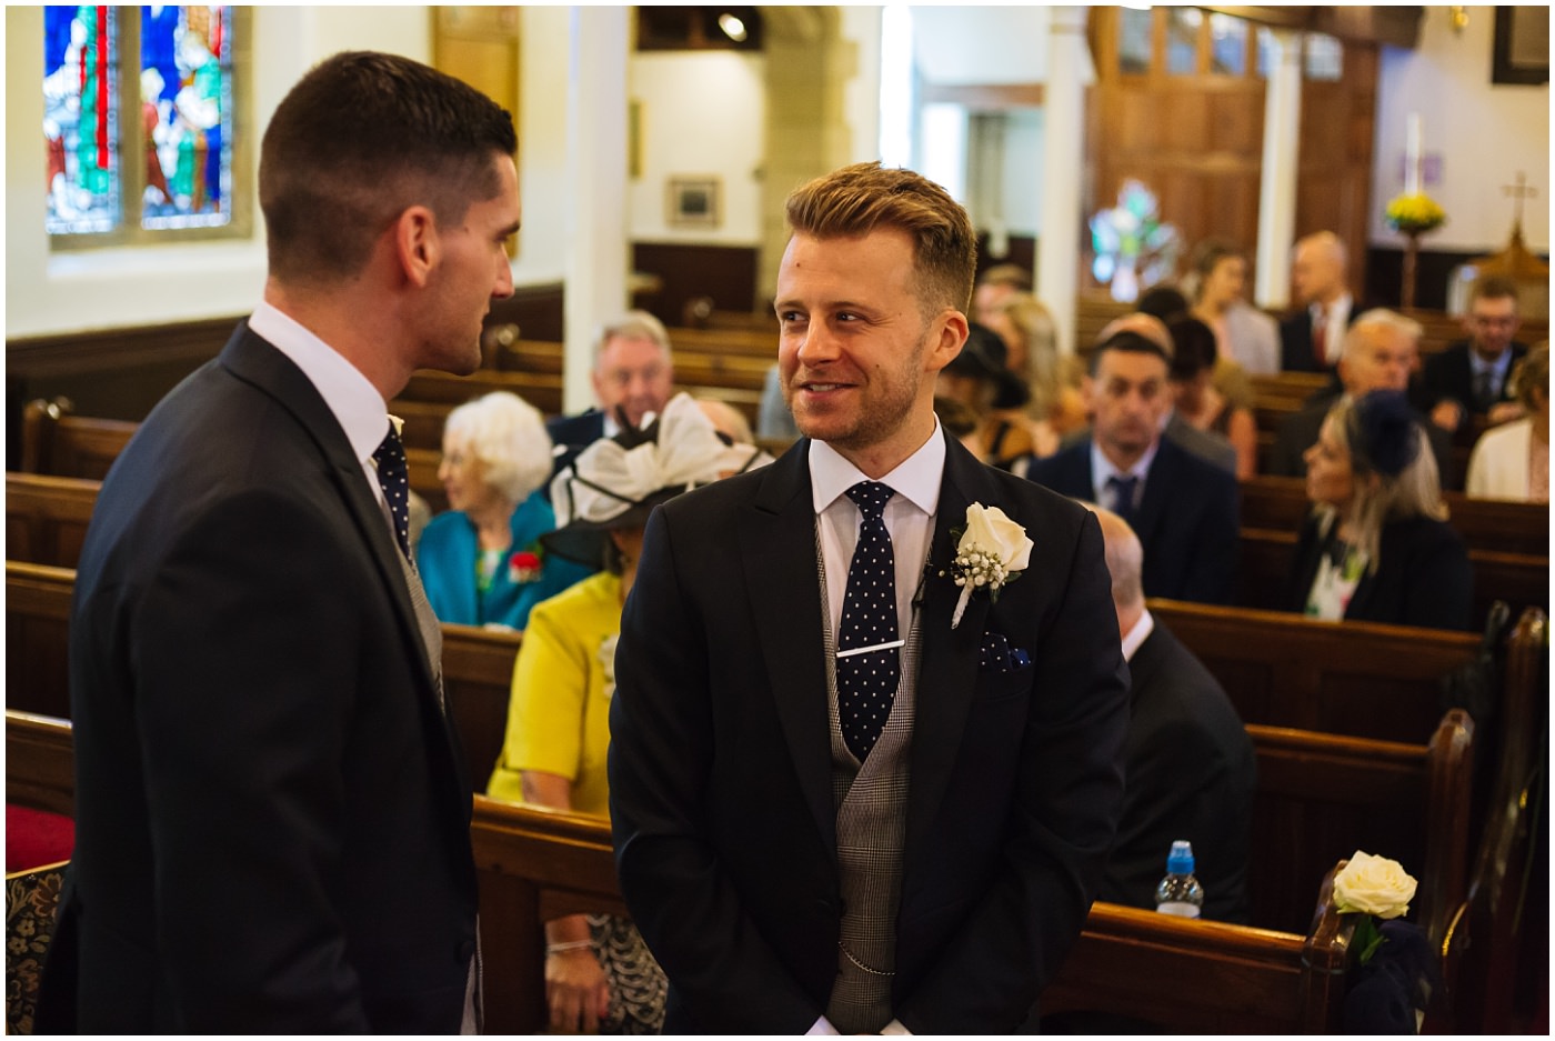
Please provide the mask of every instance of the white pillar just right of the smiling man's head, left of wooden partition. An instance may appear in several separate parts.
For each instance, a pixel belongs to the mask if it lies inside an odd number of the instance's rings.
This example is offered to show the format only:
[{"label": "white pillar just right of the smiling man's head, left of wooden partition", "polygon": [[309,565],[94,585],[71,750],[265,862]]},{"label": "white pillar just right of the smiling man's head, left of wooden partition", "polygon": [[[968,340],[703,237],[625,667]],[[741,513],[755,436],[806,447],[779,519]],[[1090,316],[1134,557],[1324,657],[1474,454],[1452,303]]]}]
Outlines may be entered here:
[{"label": "white pillar just right of the smiling man's head, left of wooden partition", "polygon": [[1061,353],[1075,352],[1075,296],[1081,265],[1081,171],[1085,154],[1085,86],[1095,79],[1085,45],[1085,8],[1051,9],[1043,87],[1042,227],[1037,299],[1053,311]]}]

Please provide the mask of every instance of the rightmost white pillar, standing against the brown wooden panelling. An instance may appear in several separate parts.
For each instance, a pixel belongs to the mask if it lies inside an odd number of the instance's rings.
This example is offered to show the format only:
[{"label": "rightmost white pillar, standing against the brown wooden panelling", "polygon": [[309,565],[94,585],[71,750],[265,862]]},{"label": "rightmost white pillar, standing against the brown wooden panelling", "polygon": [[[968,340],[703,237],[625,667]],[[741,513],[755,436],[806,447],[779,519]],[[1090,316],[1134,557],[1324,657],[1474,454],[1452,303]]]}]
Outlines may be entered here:
[{"label": "rightmost white pillar, standing against the brown wooden panelling", "polygon": [[1263,176],[1258,185],[1258,307],[1283,308],[1295,240],[1295,174],[1302,134],[1302,34],[1270,30],[1274,53],[1264,95]]}]

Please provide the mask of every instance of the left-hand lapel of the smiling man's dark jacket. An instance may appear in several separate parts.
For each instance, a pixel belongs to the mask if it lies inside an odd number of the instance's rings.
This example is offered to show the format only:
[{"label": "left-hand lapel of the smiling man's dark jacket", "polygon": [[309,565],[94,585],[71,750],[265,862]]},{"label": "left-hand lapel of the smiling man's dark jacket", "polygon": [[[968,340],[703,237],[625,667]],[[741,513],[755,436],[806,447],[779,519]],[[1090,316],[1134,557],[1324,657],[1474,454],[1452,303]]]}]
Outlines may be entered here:
[{"label": "left-hand lapel of the smiling man's dark jacket", "polygon": [[740,557],[788,755],[815,826],[835,856],[832,725],[826,706],[809,440],[799,440],[764,475],[748,521],[740,526]]}]

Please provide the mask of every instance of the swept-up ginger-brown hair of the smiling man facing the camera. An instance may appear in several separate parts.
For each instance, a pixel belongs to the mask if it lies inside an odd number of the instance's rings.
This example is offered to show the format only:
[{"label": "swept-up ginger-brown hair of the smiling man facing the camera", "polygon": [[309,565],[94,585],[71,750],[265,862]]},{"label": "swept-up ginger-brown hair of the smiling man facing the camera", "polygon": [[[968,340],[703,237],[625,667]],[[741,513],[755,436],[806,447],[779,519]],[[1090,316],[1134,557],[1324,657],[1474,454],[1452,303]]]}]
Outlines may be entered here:
[{"label": "swept-up ginger-brown hair of the smiling man facing the camera", "polygon": [[854,238],[894,227],[913,238],[919,310],[966,311],[977,272],[977,235],[959,202],[911,170],[879,162],[843,166],[788,196],[788,226],[796,235]]}]

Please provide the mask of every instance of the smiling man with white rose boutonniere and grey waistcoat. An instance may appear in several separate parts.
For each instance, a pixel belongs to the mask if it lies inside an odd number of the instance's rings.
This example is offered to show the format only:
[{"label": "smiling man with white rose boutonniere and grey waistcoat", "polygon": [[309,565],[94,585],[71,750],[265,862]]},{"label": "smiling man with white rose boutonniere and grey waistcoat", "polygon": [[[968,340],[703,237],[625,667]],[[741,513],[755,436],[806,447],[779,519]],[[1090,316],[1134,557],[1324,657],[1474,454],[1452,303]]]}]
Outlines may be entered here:
[{"label": "smiling man with white rose boutonniere and grey waistcoat", "polygon": [[[788,223],[804,439],[648,521],[611,705],[622,892],[666,1033],[1011,1032],[1123,790],[1101,532],[939,428],[975,268],[942,188],[860,163]],[[963,537],[991,554],[958,563]]]}]

